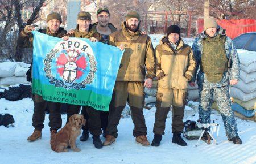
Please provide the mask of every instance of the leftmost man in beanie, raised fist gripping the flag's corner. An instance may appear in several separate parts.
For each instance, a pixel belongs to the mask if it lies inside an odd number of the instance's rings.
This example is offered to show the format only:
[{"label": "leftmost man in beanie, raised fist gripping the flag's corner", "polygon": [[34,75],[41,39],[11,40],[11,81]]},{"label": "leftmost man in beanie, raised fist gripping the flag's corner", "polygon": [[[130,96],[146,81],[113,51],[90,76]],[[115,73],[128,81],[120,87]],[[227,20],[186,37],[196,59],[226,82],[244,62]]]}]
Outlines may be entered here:
[{"label": "leftmost man in beanie, raised fist gripping the flag's corner", "polygon": [[[60,27],[60,24],[62,22],[60,14],[56,12],[49,14],[47,16],[46,22],[47,28],[39,29],[39,32],[59,38],[63,37],[67,33],[64,28]],[[31,31],[33,30],[34,27],[32,25],[26,25],[25,28],[22,29],[17,41],[18,46],[22,48],[28,48],[33,46],[33,35],[31,33]],[[28,81],[32,81],[31,72],[32,63],[30,69],[27,72]],[[43,100],[42,96],[39,96],[36,93],[32,95],[32,100],[34,102],[32,126],[35,128],[35,130],[32,135],[28,137],[27,140],[32,142],[41,139],[45,118],[44,109],[46,108],[46,105],[49,107],[49,127],[51,127],[50,130],[52,139],[52,137],[56,135],[57,130],[62,126],[60,115],[61,103],[45,101]]]}]

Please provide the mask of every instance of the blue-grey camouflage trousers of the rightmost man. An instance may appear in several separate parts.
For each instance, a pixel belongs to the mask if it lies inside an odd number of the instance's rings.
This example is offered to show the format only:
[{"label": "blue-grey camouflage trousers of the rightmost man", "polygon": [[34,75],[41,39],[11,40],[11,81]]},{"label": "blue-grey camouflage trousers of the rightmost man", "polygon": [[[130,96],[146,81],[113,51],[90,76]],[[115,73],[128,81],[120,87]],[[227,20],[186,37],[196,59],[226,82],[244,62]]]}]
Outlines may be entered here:
[{"label": "blue-grey camouflage trousers of the rightmost man", "polygon": [[224,122],[226,136],[228,139],[231,139],[238,136],[238,134],[234,111],[231,109],[229,85],[222,87],[216,87],[214,85],[214,83],[209,82],[199,84],[199,119],[201,123],[210,123],[210,113],[212,110],[211,106],[214,93]]}]

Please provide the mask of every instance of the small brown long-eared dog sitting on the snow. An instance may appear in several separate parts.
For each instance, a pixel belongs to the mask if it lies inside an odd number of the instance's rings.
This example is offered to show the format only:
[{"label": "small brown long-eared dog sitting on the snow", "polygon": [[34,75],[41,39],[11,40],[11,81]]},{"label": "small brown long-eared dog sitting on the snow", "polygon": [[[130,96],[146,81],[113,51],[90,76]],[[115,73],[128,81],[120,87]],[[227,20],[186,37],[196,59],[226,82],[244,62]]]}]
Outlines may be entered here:
[{"label": "small brown long-eared dog sitting on the snow", "polygon": [[55,152],[68,152],[68,146],[79,152],[80,149],[76,146],[76,138],[81,134],[82,125],[85,126],[86,120],[81,114],[74,114],[69,118],[69,122],[57,132],[51,142],[51,148]]}]

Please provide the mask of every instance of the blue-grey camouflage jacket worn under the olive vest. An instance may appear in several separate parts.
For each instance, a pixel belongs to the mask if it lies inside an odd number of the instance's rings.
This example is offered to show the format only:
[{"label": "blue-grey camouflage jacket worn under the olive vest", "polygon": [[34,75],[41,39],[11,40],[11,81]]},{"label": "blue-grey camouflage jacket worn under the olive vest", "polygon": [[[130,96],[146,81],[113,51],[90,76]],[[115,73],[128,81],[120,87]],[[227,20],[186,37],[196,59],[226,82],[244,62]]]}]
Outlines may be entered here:
[{"label": "blue-grey camouflage jacket worn under the olive vest", "polygon": [[[216,32],[217,34],[223,34],[224,30],[220,27],[218,31]],[[203,52],[203,39],[207,37],[207,34],[205,32],[202,32],[199,34],[199,36],[195,39],[192,45],[194,57],[196,60],[196,71],[195,75],[193,76],[191,81],[196,80],[196,74],[197,74],[197,83],[202,84],[207,81],[206,76],[204,76],[204,72],[202,70],[199,70],[197,73],[197,70],[200,66],[201,63],[201,53]],[[216,87],[222,87],[225,85],[229,85],[229,79],[232,80],[240,80],[240,62],[239,62],[239,57],[237,54],[237,49],[234,46],[234,42],[231,40],[231,38],[226,37],[226,42],[225,42],[225,51],[226,51],[226,57],[229,59],[230,66],[229,66],[229,71],[225,71],[222,77],[222,80],[219,83],[215,83]]]}]

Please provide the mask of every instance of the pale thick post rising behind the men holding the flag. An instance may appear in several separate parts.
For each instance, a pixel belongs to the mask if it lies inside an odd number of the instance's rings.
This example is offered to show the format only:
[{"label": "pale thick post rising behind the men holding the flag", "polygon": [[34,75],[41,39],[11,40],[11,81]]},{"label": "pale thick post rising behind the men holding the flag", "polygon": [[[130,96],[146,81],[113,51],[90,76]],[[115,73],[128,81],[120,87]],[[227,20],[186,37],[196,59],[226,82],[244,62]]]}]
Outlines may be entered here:
[{"label": "pale thick post rising behind the men holding the flag", "polygon": [[67,1],[67,31],[76,28],[77,14],[81,10],[81,0]]}]

